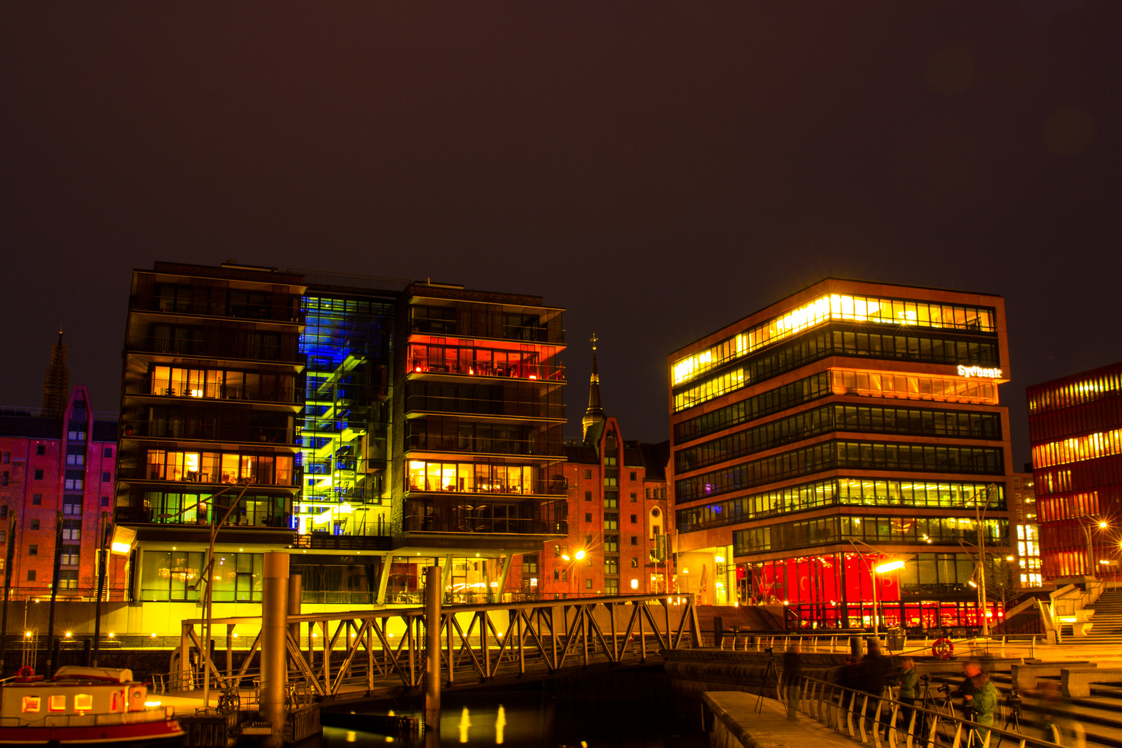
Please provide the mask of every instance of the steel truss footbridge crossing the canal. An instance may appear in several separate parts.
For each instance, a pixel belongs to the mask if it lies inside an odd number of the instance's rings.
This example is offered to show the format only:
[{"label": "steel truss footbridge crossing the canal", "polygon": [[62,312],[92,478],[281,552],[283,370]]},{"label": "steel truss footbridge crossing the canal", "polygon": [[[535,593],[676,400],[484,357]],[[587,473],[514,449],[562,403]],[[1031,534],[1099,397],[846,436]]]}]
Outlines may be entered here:
[{"label": "steel truss footbridge crossing the canal", "polygon": [[[172,695],[197,696],[206,683],[211,705],[220,694],[251,703],[260,677],[261,617],[215,618],[209,653],[205,620],[184,620],[180,652],[188,656],[166,681]],[[395,608],[343,613],[289,615],[286,657],[289,703],[383,699],[424,684],[425,609]],[[540,680],[592,667],[661,661],[664,649],[700,646],[691,594],[596,597],[536,602],[449,606],[439,620],[442,687]],[[256,634],[234,666],[233,643]],[[218,644],[215,641],[215,644]],[[246,652],[240,650],[239,654]]]}]

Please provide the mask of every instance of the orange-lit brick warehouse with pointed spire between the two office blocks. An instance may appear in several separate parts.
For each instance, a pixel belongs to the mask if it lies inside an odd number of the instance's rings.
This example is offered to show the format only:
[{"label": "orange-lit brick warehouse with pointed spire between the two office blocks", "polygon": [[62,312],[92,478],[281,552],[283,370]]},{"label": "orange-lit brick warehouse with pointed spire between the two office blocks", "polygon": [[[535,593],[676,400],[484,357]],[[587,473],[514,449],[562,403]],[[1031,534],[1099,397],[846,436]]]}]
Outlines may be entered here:
[{"label": "orange-lit brick warehouse with pointed spire between the two office blocks", "polygon": [[669,532],[669,443],[626,441],[605,416],[592,340],[585,436],[564,445],[569,536],[548,542],[541,558],[523,556],[523,590],[532,591],[536,576],[541,592],[558,597],[664,592],[673,565],[665,539],[659,542]]}]

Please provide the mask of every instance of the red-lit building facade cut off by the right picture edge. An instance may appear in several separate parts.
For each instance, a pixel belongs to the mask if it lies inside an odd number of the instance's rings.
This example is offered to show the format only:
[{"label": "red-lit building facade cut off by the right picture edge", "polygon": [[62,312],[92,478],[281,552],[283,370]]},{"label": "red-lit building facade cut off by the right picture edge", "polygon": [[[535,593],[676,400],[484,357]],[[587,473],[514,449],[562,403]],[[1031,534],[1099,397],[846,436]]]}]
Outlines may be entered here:
[{"label": "red-lit building facade cut off by the right picture edge", "polygon": [[1028,400],[1045,579],[1116,570],[1122,362],[1033,385]]}]

